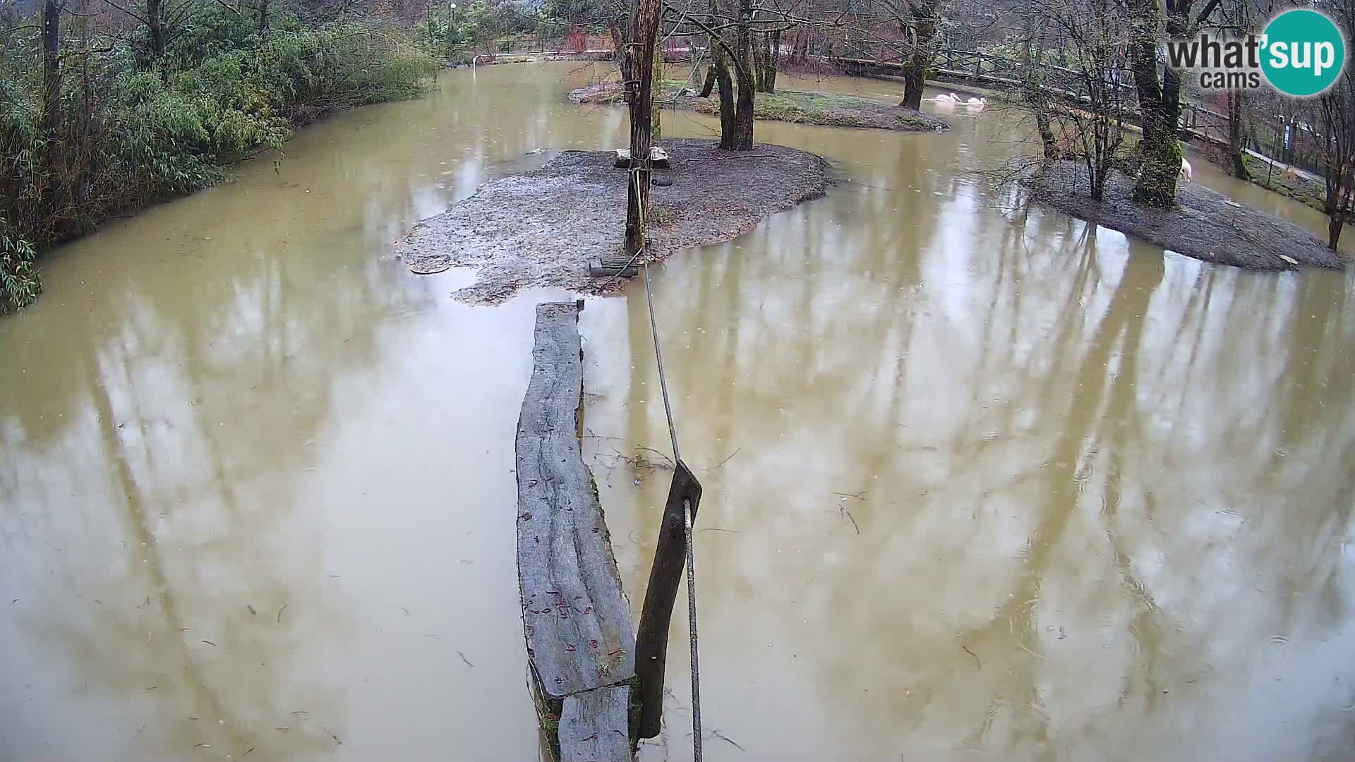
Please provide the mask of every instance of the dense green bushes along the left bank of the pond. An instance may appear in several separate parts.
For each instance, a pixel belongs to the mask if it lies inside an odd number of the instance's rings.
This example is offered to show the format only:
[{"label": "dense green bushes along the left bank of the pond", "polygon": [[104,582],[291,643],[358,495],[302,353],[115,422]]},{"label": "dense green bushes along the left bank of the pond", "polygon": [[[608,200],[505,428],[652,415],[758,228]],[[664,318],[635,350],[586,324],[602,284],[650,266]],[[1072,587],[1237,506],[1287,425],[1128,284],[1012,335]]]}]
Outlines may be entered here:
[{"label": "dense green bushes along the left bank of the pond", "polygon": [[226,165],[280,145],[293,127],[413,96],[435,73],[408,31],[374,22],[278,18],[263,34],[203,5],[153,62],[136,35],[76,24],[62,46],[56,126],[43,121],[38,38],[0,38],[0,312],[37,294],[35,248],[220,182]]}]

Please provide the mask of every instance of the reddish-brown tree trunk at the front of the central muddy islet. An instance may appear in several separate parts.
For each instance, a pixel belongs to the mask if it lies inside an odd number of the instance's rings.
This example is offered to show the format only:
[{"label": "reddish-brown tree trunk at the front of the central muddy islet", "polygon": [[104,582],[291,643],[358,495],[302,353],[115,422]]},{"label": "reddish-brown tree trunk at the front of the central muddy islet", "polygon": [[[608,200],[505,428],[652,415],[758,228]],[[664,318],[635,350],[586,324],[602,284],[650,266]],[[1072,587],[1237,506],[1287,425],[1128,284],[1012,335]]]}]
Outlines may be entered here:
[{"label": "reddish-brown tree trunk at the front of the central muddy islet", "polygon": [[[653,129],[654,43],[659,39],[659,0],[638,0],[630,26],[630,168],[626,171],[626,255],[645,245],[644,213],[649,209],[649,138]],[[635,85],[635,87],[633,87]]]}]

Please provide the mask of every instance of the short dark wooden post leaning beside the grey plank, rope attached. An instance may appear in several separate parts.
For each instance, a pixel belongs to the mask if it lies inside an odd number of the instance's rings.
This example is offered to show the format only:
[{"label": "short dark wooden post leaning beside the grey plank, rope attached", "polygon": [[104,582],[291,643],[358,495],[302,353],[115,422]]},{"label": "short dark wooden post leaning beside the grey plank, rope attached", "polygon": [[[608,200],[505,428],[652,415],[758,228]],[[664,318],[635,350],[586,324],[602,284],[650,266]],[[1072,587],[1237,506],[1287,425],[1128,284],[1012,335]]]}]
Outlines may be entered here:
[{"label": "short dark wooden post leaning beside the grey plank, rope attached", "polygon": [[640,613],[640,632],[635,633],[635,677],[640,678],[640,738],[654,738],[664,716],[664,667],[668,659],[668,624],[672,621],[678,582],[687,561],[686,517],[683,503],[696,521],[701,503],[701,483],[678,461],[668,502],[664,504],[654,565],[649,569],[645,588],[645,607]]}]

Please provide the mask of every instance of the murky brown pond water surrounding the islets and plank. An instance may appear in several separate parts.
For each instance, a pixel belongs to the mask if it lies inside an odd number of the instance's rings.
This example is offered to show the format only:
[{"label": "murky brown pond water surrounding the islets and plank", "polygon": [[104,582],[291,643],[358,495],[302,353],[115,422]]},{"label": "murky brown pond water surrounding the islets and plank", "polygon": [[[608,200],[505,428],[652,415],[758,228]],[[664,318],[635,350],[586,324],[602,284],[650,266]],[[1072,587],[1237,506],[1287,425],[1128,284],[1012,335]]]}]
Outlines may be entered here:
[{"label": "murky brown pond water surrounding the islets and plank", "polygon": [[[383,255],[527,152],[618,145],[564,100],[587,76],[447,72],[43,263],[0,321],[0,758],[538,758],[512,441],[566,294],[466,306]],[[965,175],[1000,119],[953,122],[759,125],[854,182],[653,271],[706,485],[707,759],[1351,758],[1351,277],[1009,213]],[[638,610],[642,292],[581,328]],[[686,625],[645,761],[691,757]]]}]

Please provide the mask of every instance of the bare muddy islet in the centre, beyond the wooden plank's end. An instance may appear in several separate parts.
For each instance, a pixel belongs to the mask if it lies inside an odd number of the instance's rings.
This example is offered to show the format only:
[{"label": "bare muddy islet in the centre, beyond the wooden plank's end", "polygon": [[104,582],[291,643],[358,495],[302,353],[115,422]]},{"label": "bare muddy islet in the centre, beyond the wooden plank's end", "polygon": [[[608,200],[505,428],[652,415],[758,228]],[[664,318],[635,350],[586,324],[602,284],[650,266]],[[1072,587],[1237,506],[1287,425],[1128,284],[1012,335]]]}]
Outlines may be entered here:
[{"label": "bare muddy islet in the centre, beyond the wooden plank's end", "polygon": [[[672,180],[650,190],[650,243],[644,260],[724,241],[751,230],[767,216],[820,198],[828,163],[782,145],[730,153],[710,140],[669,140]],[[430,217],[396,244],[411,270],[473,267],[477,279],[457,292],[474,304],[499,304],[522,289],[554,286],[600,293],[602,278],[588,260],[619,255],[626,171],[610,152],[564,152],[539,169],[485,183],[447,212]],[[614,281],[606,290],[623,286]]]}]

